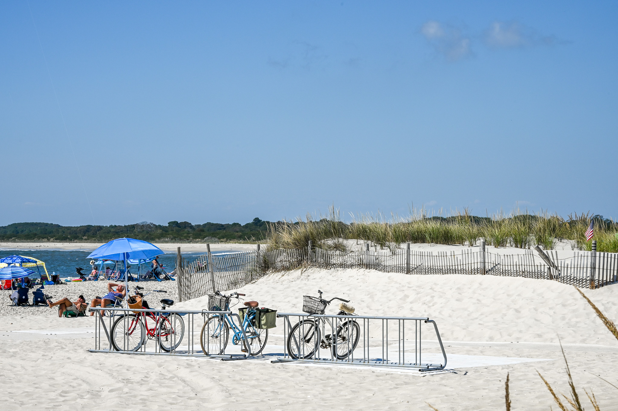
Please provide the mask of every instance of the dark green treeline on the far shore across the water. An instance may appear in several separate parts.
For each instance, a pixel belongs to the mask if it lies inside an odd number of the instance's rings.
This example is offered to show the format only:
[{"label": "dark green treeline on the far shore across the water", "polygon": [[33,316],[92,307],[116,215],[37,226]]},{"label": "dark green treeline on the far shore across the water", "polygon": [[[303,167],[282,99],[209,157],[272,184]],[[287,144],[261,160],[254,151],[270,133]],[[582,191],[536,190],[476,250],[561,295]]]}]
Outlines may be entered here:
[{"label": "dark green treeline on the far shore across the water", "polygon": [[245,225],[240,223],[193,225],[186,221],[171,221],[167,225],[143,222],[129,225],[70,227],[51,223],[13,223],[0,226],[0,241],[106,243],[122,237],[159,242],[260,241],[266,239],[269,223],[260,218],[253,218],[252,222]]}]

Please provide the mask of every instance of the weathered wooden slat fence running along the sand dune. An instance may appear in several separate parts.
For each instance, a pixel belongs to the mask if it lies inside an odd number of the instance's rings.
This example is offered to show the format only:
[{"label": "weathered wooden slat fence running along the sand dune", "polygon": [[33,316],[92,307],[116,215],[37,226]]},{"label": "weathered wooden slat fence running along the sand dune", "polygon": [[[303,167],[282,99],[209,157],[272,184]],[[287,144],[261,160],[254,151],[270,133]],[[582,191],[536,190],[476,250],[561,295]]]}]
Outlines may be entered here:
[{"label": "weathered wooden slat fence running along the sand dune", "polygon": [[269,272],[295,268],[365,268],[385,273],[465,274],[538,278],[595,289],[618,281],[618,254],[574,251],[560,259],[557,252],[546,251],[551,264],[532,250],[521,254],[497,254],[480,249],[455,251],[417,251],[396,249],[375,251],[331,251],[320,248],[275,249],[236,252],[221,256],[201,255],[180,266],[180,301],[226,291],[252,283]]}]

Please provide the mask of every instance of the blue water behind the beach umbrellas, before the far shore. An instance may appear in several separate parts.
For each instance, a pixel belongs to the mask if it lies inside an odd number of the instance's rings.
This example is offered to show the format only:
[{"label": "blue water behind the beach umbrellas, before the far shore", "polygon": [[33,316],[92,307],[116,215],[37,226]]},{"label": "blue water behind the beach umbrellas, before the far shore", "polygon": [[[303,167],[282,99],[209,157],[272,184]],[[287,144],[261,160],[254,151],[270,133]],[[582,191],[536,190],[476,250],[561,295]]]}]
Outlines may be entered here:
[{"label": "blue water behind the beach umbrellas, before the far shore", "polygon": [[[232,250],[226,251],[215,251],[213,254],[221,254],[224,252],[230,252]],[[82,267],[83,273],[85,275],[90,274],[91,266],[90,259],[88,259],[88,254],[92,251],[57,251],[57,250],[0,250],[0,258],[8,257],[9,255],[24,255],[25,257],[34,257],[35,259],[41,260],[45,263],[45,267],[47,267],[47,272],[51,275],[53,272],[60,275],[61,278],[66,277],[78,277],[77,273],[75,273],[75,267]],[[199,255],[206,254],[204,252],[182,252],[182,257],[187,259],[188,261],[195,260]],[[163,264],[163,267],[167,272],[171,272],[176,268],[176,252],[167,252],[159,256],[159,262]],[[113,265],[110,264],[112,267]],[[147,270],[150,270],[150,263],[142,265],[142,270],[147,267]],[[43,267],[40,268],[41,272],[44,273]],[[36,268],[34,270],[36,272]],[[133,275],[137,274],[137,267],[133,266],[131,268],[131,273]],[[36,275],[31,275],[32,278],[39,278],[38,272]]]}]

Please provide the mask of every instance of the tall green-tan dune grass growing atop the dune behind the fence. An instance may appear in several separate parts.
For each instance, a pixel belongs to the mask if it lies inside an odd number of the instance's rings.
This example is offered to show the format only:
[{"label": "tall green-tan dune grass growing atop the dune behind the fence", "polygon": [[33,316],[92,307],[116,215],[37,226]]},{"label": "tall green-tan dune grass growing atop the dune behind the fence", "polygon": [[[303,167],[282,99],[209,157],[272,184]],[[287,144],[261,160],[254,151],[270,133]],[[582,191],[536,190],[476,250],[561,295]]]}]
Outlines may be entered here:
[{"label": "tall green-tan dune grass growing atop the dune behind the fence", "polygon": [[[442,217],[430,215],[425,209],[412,209],[410,216],[401,218],[383,214],[355,215],[351,223],[344,223],[339,210],[331,207],[326,216],[297,221],[272,223],[268,240],[273,248],[305,249],[313,246],[345,251],[345,239],[373,244],[381,249],[396,249],[402,243],[462,244],[475,246],[480,239],[495,247],[514,246],[529,249],[536,244],[543,249],[554,249],[559,239],[569,239],[580,250],[591,249],[585,232],[590,225],[588,214],[572,214],[562,218],[541,211],[536,214],[517,209],[509,214],[498,212],[487,217],[470,215],[467,209],[455,210]],[[618,252],[618,225],[595,220],[597,251]]]}]

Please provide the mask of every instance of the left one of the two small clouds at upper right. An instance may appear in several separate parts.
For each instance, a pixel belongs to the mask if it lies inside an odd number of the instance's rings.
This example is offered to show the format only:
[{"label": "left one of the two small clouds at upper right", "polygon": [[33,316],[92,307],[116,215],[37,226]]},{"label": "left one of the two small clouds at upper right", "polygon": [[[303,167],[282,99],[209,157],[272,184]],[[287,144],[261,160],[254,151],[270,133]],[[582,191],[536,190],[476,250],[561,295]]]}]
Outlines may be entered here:
[{"label": "left one of the two small clouds at upper right", "polygon": [[464,36],[459,28],[430,20],[421,27],[421,34],[436,52],[449,61],[472,56],[470,38]]}]

